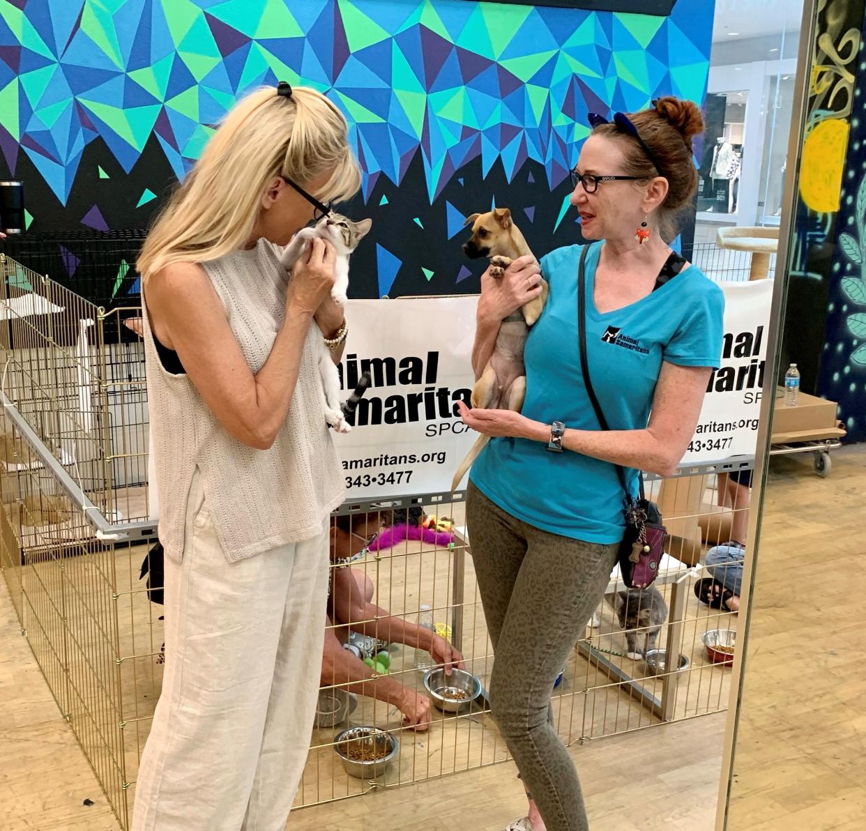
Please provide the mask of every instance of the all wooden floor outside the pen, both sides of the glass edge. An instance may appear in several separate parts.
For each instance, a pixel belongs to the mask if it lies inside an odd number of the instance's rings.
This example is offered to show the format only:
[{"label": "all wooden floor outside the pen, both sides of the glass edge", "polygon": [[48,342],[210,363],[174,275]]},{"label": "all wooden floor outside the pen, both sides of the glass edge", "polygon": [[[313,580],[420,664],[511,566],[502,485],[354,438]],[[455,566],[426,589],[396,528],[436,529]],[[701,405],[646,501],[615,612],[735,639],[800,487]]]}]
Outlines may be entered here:
[{"label": "all wooden floor outside the pen, both sides of the glass edge", "polygon": [[[857,706],[866,664],[856,658],[866,596],[866,448],[833,458],[826,480],[814,476],[808,456],[773,461],[732,831],[866,828],[866,716]],[[724,721],[711,715],[573,746],[592,827],[713,828]],[[304,808],[289,828],[501,831],[522,808],[514,766],[501,763]],[[20,634],[3,581],[0,828],[119,828]]]}]

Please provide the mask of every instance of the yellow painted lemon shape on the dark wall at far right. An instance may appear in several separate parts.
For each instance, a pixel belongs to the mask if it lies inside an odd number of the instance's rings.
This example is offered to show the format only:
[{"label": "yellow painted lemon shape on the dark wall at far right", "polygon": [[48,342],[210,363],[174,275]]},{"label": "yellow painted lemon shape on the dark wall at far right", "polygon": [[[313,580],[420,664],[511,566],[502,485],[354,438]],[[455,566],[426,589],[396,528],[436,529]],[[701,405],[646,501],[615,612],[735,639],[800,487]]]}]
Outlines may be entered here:
[{"label": "yellow painted lemon shape on the dark wall at far right", "polygon": [[826,119],[808,135],[800,165],[800,196],[806,205],[822,214],[839,209],[848,122]]}]

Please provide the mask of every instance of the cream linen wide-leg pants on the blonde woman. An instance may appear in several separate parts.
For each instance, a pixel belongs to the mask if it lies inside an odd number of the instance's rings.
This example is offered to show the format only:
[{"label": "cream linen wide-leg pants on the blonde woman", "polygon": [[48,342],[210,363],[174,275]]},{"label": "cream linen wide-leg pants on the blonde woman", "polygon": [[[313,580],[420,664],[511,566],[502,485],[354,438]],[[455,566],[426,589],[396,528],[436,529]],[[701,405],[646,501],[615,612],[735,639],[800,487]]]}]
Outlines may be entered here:
[{"label": "cream linen wide-leg pants on the blonde woman", "polygon": [[181,563],[165,558],[165,676],[132,831],[282,831],[319,690],[326,523],[229,563],[198,475]]}]

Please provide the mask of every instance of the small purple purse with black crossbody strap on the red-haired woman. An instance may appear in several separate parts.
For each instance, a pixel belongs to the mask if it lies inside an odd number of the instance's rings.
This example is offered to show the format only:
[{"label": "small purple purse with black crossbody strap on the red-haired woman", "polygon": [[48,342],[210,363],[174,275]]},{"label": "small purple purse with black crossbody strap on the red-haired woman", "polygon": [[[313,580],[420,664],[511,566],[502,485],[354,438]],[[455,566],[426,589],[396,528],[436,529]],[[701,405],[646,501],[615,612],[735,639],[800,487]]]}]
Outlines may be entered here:
[{"label": "small purple purse with black crossbody strap on the red-haired woman", "polygon": [[[580,255],[578,271],[578,334],[580,338],[580,369],[584,375],[586,394],[590,397],[592,409],[595,410],[598,424],[603,430],[610,429],[604,418],[601,405],[598,403],[595,390],[592,389],[590,368],[586,358],[586,280],[585,263],[589,246],[584,246]],[[625,471],[621,465],[617,468],[619,483],[623,487],[623,515],[625,518],[625,533],[619,544],[619,571],[625,585],[631,589],[645,589],[658,577],[658,568],[662,563],[664,544],[668,531],[662,525],[662,514],[655,502],[646,499],[643,493],[643,473],[638,474],[637,499],[629,491],[625,480]]]}]

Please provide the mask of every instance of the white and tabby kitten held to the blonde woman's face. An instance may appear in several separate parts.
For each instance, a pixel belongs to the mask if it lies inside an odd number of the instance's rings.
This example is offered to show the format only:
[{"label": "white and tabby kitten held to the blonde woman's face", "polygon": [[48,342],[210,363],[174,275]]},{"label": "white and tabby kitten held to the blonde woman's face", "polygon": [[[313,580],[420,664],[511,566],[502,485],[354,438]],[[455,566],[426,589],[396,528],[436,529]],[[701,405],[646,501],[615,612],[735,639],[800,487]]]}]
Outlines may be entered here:
[{"label": "white and tabby kitten held to the blonde woman's face", "polygon": [[[362,219],[360,222],[352,222],[346,216],[331,213],[323,216],[313,228],[304,228],[294,235],[283,251],[280,261],[287,271],[291,271],[294,263],[298,260],[307,241],[313,237],[320,236],[333,244],[337,252],[336,279],[333,282],[331,297],[334,302],[343,306],[346,303],[346,293],[349,289],[349,256],[358,243],[372,227],[372,220]],[[337,364],[333,363],[331,350],[324,341],[320,341],[319,347],[319,374],[322,379],[322,389],[325,392],[325,421],[338,433],[348,433],[352,425],[346,420],[339,403],[339,372]]]}]

